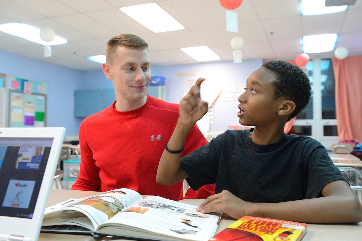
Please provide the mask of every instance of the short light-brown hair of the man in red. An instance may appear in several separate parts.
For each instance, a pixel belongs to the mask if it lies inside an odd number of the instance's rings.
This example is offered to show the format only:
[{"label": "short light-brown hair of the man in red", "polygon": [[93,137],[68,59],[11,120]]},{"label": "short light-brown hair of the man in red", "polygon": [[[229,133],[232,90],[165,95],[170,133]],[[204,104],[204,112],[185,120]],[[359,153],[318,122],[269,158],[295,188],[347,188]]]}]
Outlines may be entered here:
[{"label": "short light-brown hair of the man in red", "polygon": [[132,48],[147,48],[148,44],[142,38],[134,34],[117,34],[109,39],[106,45],[106,62],[112,64],[118,46],[127,46]]}]

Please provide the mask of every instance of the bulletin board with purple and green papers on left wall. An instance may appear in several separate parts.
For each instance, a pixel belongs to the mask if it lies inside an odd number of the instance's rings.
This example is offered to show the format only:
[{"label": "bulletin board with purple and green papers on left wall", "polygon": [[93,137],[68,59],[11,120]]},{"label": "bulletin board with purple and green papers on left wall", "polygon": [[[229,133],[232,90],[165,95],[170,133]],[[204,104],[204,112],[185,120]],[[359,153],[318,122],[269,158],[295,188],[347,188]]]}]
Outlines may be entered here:
[{"label": "bulletin board with purple and green papers on left wall", "polygon": [[47,83],[8,76],[9,127],[46,127]]}]

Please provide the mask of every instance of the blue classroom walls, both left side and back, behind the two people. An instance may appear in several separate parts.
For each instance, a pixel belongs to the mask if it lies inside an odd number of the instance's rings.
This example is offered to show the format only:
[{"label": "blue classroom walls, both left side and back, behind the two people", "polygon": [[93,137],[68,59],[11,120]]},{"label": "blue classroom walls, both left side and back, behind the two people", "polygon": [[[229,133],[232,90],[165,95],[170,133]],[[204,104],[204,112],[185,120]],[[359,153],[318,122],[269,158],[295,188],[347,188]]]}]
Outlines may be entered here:
[{"label": "blue classroom walls, both left side and back, behind the two people", "polygon": [[[0,73],[46,81],[49,84],[47,126],[64,126],[67,129],[66,135],[78,135],[79,125],[83,120],[73,115],[74,90],[113,88],[112,81],[104,76],[101,64],[99,71],[81,72],[5,51],[0,51],[0,63]],[[244,91],[242,88],[250,73],[259,68],[262,63],[262,59],[254,59],[244,60],[239,64],[217,62],[151,65],[151,72],[152,76],[165,77],[168,101],[172,103],[177,103],[188,92],[190,83],[198,77],[206,78],[203,84],[205,86],[223,89],[218,100],[209,108],[207,115],[212,116],[211,130],[226,130],[227,126],[239,125],[236,117],[239,111],[237,97]],[[201,94],[203,94],[203,89]]]}]

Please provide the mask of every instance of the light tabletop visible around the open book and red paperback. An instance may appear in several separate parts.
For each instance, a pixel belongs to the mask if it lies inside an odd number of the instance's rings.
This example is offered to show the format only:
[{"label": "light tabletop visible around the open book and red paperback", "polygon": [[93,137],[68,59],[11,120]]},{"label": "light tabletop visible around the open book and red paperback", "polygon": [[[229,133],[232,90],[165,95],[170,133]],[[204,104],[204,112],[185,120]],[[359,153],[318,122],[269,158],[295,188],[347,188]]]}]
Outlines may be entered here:
[{"label": "light tabletop visible around the open book and red paperback", "polygon": [[[97,194],[93,191],[74,191],[64,189],[51,189],[47,207],[62,202],[70,198],[83,198]],[[200,199],[186,199],[180,202],[198,205],[202,202]],[[318,215],[316,213],[316,215]],[[235,220],[224,215],[216,233],[220,232]],[[308,224],[307,234],[302,241],[361,241],[362,222],[358,224]],[[59,233],[40,233],[39,241],[67,240],[67,241],[100,241],[102,237],[94,238],[87,235],[59,234]]]}]

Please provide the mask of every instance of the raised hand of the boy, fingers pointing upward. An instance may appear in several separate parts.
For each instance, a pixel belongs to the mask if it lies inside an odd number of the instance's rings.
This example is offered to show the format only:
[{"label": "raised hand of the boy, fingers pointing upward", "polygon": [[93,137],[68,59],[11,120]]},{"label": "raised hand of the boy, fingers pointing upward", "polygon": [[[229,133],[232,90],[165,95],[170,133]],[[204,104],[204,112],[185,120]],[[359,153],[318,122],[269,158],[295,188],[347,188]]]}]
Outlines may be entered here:
[{"label": "raised hand of the boy, fingers pointing upward", "polygon": [[180,101],[180,118],[182,123],[194,125],[207,112],[208,103],[201,100],[201,83],[205,79],[199,78],[189,93]]}]

